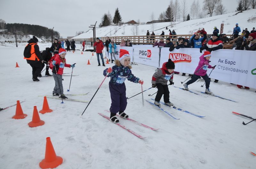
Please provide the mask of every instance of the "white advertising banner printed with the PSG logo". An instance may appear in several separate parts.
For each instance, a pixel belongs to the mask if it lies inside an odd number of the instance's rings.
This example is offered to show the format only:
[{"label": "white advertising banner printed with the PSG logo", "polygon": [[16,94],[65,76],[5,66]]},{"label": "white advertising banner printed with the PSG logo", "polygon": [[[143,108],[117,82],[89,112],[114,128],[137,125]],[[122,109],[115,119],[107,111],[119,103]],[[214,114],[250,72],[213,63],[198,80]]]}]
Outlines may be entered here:
[{"label": "white advertising banner printed with the PSG logo", "polygon": [[159,67],[159,48],[134,48],[134,62]]}]

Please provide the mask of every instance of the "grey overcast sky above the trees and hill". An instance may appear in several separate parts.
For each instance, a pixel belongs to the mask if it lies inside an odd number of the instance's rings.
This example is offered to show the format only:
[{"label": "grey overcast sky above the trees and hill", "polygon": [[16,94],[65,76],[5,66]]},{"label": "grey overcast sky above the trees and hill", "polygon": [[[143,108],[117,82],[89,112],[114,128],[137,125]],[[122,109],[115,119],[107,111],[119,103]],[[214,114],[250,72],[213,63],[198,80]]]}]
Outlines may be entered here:
[{"label": "grey overcast sky above the trees and hill", "polygon": [[[179,2],[181,3],[182,0]],[[203,6],[203,0],[198,0]],[[186,0],[187,13],[193,0]],[[114,16],[118,7],[122,21],[150,21],[166,10],[170,0],[1,0],[0,18],[6,23],[24,23],[54,27],[63,38],[75,36],[78,31],[87,31],[88,26],[101,22],[104,13]],[[236,10],[236,0],[222,0],[228,12]]]}]

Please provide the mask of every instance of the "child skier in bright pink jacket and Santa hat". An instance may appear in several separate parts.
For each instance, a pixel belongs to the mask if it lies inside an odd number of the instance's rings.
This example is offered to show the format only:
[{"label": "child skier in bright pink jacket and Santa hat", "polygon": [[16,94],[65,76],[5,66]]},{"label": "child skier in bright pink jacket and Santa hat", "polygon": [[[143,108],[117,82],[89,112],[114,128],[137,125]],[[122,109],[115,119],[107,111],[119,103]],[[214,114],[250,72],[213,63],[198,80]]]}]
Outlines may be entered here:
[{"label": "child skier in bright pink jacket and Santa hat", "polygon": [[199,58],[200,61],[199,61],[198,66],[194,72],[194,75],[192,76],[192,79],[183,85],[186,90],[188,90],[188,85],[194,83],[201,76],[201,77],[203,77],[203,79],[205,81],[205,87],[206,87],[205,93],[212,94],[212,92],[209,89],[211,79],[206,74],[207,68],[210,68],[210,69],[212,68],[213,70],[215,69],[215,66],[212,67],[209,64],[210,58],[211,58],[211,53],[209,51],[205,51],[204,54],[202,56],[200,56],[200,58]]}]

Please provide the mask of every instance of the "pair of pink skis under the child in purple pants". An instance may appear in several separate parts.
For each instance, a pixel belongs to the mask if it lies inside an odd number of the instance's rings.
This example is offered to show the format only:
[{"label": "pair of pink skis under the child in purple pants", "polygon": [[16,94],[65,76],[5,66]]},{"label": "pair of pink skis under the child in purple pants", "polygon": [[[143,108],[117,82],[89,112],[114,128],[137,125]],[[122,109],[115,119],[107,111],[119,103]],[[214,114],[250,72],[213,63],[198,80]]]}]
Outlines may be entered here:
[{"label": "pair of pink skis under the child in purple pants", "polygon": [[[108,113],[110,113],[108,110],[105,110],[105,111],[108,112]],[[101,113],[98,113],[98,114],[100,114],[102,117],[104,117],[104,118],[108,119],[109,121],[111,121],[108,116],[106,116],[106,115],[104,115],[104,114],[101,114]],[[120,117],[118,114],[116,114],[116,116]],[[142,127],[147,128],[147,129],[151,129],[151,130],[154,130],[154,131],[158,130],[158,129],[149,127],[149,126],[147,126],[147,125],[145,125],[145,124],[143,124],[143,123],[140,123],[139,121],[135,121],[135,120],[133,120],[133,119],[131,119],[131,118],[127,118],[127,119],[125,119],[125,120],[131,121],[131,122],[133,122],[133,123],[135,123],[135,124],[137,124],[137,125],[139,125],[139,126],[142,126]],[[116,124],[116,125],[118,125],[119,127],[123,128],[123,129],[125,129],[125,130],[127,130],[128,132],[132,133],[134,136],[136,136],[136,137],[138,137],[138,138],[141,138],[141,139],[146,138],[146,137],[140,136],[138,133],[132,131],[131,129],[126,128],[124,125],[120,124],[120,122],[119,122],[119,123],[114,123],[114,124]]]}]

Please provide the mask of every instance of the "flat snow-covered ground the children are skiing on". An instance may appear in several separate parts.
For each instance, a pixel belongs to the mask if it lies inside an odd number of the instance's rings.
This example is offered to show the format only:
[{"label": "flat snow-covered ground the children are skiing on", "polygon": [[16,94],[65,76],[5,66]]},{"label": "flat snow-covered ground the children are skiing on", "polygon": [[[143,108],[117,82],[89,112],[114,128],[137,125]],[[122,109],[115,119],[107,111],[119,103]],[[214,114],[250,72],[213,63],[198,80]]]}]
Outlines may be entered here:
[{"label": "flat snow-covered ground the children are skiing on", "polygon": [[[253,169],[256,168],[255,126],[252,122],[246,126],[242,121],[247,119],[232,111],[256,117],[255,89],[238,89],[236,85],[221,82],[211,83],[210,89],[217,95],[238,101],[231,102],[210,95],[196,95],[169,86],[170,99],[175,106],[192,113],[205,115],[199,118],[170,107],[162,106],[175,120],[146,99],[153,97],[156,89],[144,93],[145,107],[142,107],[142,96],[128,99],[126,113],[130,118],[144,123],[158,131],[146,129],[130,121],[120,119],[120,123],[141,136],[139,139],[116,124],[108,121],[98,113],[109,116],[111,104],[108,89],[109,78],[95,95],[91,104],[81,116],[87,103],[48,99],[51,113],[39,114],[45,121],[43,126],[28,127],[32,120],[33,106],[42,109],[43,97],[51,95],[54,87],[53,77],[42,77],[40,82],[33,82],[31,67],[23,59],[25,45],[18,48],[0,46],[0,107],[15,104],[16,100],[25,100],[21,107],[28,116],[14,120],[15,107],[0,112],[0,164],[3,169],[39,169],[39,162],[44,159],[46,137],[51,141],[57,156],[63,158],[58,169]],[[40,50],[50,44],[40,44]],[[87,65],[91,52],[68,52],[67,63],[76,63],[73,70],[70,91],[70,77],[63,77],[65,94],[90,92],[83,96],[70,96],[72,99],[89,101],[104,79],[106,67],[97,66],[96,55]],[[20,68],[15,68],[18,62]],[[106,62],[106,59],[105,59]],[[143,89],[151,87],[151,77],[156,68],[145,65],[134,65],[132,73],[144,80]],[[71,72],[65,68],[64,73]],[[209,72],[208,72],[209,73]],[[44,73],[43,73],[44,75]],[[183,87],[180,81],[188,76],[174,75],[174,86]],[[131,97],[141,92],[139,84],[128,80],[126,96]],[[189,85],[192,91],[204,91],[203,82]],[[163,99],[162,99],[163,101]],[[254,108],[253,108],[254,107]]]}]

